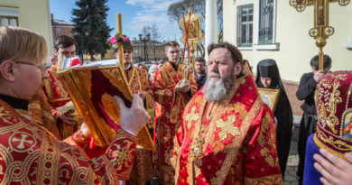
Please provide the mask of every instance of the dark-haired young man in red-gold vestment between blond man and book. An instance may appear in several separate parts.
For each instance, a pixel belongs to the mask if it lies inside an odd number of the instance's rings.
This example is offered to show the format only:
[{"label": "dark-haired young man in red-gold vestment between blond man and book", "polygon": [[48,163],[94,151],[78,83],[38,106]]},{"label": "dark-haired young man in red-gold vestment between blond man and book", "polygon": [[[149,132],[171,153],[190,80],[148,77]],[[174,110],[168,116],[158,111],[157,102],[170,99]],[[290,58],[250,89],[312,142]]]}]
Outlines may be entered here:
[{"label": "dark-haired young man in red-gold vestment between blond man and book", "polygon": [[76,108],[57,74],[65,57],[76,56],[76,45],[77,42],[67,35],[61,35],[55,40],[53,51],[58,63],[47,70],[49,78],[43,80],[42,98],[29,105],[32,118],[58,139],[72,135],[81,123]]}]

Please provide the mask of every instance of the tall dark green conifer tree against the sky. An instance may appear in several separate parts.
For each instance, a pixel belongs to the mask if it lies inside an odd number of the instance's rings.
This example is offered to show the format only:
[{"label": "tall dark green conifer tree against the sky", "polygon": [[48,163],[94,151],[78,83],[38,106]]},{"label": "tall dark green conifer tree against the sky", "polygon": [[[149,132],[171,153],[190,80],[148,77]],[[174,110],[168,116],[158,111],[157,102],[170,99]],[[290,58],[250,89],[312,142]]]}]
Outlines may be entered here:
[{"label": "tall dark green conifer tree against the sky", "polygon": [[[78,9],[72,11],[72,22],[75,24],[73,33],[78,53],[93,55],[100,54],[104,58],[109,45],[107,39],[112,30],[107,25],[107,0],[77,0]],[[82,45],[82,46],[81,46]]]}]

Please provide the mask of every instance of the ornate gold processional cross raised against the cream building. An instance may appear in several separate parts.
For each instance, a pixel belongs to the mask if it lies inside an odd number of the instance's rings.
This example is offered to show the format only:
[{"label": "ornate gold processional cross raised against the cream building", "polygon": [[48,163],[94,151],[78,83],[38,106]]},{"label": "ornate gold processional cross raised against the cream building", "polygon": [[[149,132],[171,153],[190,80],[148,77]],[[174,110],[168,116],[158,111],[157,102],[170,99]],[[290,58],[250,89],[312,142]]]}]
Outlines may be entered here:
[{"label": "ornate gold processional cross raised against the cream building", "polygon": [[314,27],[310,29],[310,36],[314,37],[319,47],[319,69],[323,69],[322,48],[327,44],[327,39],[334,33],[334,28],[329,26],[329,3],[338,2],[345,6],[350,0],[290,0],[298,12],[303,12],[308,5],[314,5]]}]

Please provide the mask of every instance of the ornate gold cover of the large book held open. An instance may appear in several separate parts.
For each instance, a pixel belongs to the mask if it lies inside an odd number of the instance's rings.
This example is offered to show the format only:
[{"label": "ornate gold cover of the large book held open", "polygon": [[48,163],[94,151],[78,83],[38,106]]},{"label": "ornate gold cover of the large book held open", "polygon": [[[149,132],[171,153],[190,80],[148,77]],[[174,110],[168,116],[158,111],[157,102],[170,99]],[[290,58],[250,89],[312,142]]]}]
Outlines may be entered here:
[{"label": "ornate gold cover of the large book held open", "polygon": [[[111,143],[116,135],[111,127],[120,127],[120,111],[113,97],[121,97],[127,107],[133,99],[123,71],[118,65],[90,66],[62,69],[58,74],[97,144]],[[139,147],[154,149],[146,126],[138,138]]]}]

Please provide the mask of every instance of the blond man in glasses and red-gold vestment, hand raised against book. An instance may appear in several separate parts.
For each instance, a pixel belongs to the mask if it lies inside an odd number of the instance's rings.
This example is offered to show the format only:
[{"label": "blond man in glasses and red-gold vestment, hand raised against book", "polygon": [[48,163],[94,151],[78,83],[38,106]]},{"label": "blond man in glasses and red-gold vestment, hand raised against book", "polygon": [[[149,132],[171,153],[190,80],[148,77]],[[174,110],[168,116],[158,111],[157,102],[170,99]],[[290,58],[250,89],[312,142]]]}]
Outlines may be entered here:
[{"label": "blond man in glasses and red-gold vestment, hand raised against book", "polygon": [[116,97],[121,129],[96,158],[58,141],[32,121],[28,102],[41,97],[47,45],[36,32],[0,28],[0,184],[119,184],[129,178],[137,138],[150,119],[143,100],[134,96],[131,108]]}]

